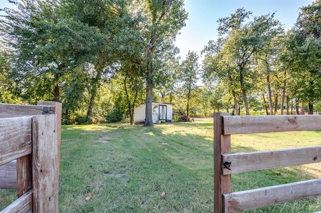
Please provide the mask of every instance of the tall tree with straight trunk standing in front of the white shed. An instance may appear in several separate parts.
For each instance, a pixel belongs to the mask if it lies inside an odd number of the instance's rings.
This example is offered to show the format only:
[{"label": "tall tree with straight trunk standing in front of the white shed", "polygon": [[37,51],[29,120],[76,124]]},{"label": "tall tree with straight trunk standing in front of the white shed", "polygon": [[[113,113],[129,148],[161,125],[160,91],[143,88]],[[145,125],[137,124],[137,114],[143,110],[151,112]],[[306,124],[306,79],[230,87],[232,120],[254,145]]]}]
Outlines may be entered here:
[{"label": "tall tree with straight trunk standing in front of the white shed", "polygon": [[[137,0],[137,11],[145,14],[137,40],[142,44],[142,57],[138,60],[146,81],[145,126],[152,126],[152,90],[157,76],[159,58],[171,49],[179,30],[185,25],[187,13],[184,0]],[[164,61],[163,61],[164,62]],[[159,75],[158,75],[159,76]]]}]

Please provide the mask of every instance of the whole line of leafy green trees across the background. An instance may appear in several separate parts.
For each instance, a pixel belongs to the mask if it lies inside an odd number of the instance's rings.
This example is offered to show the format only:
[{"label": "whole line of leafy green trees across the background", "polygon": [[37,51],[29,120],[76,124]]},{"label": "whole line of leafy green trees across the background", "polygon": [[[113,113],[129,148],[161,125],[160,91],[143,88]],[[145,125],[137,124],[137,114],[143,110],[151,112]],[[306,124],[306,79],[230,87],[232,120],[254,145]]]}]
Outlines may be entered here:
[{"label": "whole line of leafy green trees across the background", "polygon": [[[0,20],[0,101],[63,103],[65,124],[115,122],[151,100],[181,115],[312,114],[321,104],[321,0],[285,31],[244,8],[200,55],[177,56],[184,0],[20,0]],[[200,83],[202,82],[202,83]],[[300,110],[300,111],[299,111]]]}]

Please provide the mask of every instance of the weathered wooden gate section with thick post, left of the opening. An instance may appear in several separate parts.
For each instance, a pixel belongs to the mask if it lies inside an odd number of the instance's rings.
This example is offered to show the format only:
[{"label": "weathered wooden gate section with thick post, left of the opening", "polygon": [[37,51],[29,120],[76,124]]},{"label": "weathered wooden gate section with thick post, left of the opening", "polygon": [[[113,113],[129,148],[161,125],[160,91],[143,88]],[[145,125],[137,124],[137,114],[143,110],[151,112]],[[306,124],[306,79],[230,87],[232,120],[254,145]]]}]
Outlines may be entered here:
[{"label": "weathered wooden gate section with thick post, left of the opening", "polygon": [[0,103],[0,188],[18,199],[1,212],[58,212],[61,103]]}]

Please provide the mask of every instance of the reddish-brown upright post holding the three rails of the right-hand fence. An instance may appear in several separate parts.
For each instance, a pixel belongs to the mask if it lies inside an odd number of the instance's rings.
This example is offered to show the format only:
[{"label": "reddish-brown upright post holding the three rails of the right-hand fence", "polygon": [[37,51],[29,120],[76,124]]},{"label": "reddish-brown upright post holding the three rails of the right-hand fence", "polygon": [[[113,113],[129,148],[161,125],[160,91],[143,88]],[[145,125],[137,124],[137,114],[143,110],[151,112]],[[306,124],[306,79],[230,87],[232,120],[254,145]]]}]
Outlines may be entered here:
[{"label": "reddish-brown upright post holding the three rails of the right-hand fence", "polygon": [[214,113],[214,212],[223,212],[222,194],[231,192],[231,175],[223,175],[221,154],[231,153],[231,135],[223,135],[221,116]]}]

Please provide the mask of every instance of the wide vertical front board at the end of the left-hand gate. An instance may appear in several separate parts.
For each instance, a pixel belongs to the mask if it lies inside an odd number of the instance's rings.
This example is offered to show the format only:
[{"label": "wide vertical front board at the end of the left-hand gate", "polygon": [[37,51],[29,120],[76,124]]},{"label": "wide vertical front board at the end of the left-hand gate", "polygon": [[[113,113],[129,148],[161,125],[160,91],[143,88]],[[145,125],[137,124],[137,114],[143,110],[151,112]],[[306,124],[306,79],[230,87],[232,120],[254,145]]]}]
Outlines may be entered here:
[{"label": "wide vertical front board at the end of the left-hand gate", "polygon": [[33,117],[33,210],[58,212],[57,114]]}]

